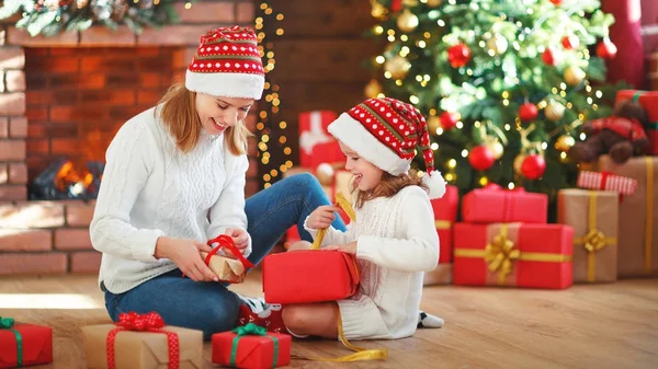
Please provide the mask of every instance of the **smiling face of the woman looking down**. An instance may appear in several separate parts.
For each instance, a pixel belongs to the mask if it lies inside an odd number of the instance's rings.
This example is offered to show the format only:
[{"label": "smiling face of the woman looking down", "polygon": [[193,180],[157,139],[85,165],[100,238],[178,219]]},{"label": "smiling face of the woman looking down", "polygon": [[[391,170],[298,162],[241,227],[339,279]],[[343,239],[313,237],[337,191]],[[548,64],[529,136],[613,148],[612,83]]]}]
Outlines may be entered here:
[{"label": "smiling face of the woman looking down", "polygon": [[220,135],[228,127],[243,120],[253,105],[253,99],[215,97],[196,94],[196,112],[203,128],[209,135]]}]

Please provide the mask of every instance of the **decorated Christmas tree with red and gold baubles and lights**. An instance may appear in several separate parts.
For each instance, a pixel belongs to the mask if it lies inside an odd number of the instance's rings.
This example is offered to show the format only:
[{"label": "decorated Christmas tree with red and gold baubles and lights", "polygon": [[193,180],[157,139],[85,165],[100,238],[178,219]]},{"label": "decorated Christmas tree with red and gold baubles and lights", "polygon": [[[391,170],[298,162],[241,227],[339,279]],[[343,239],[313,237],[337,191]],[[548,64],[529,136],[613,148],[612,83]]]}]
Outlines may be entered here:
[{"label": "decorated Christmas tree with red and gold baubles and lights", "polygon": [[371,0],[384,41],[368,96],[428,117],[435,165],[462,193],[489,183],[555,198],[586,119],[612,112],[604,59],[614,22],[599,0]]}]

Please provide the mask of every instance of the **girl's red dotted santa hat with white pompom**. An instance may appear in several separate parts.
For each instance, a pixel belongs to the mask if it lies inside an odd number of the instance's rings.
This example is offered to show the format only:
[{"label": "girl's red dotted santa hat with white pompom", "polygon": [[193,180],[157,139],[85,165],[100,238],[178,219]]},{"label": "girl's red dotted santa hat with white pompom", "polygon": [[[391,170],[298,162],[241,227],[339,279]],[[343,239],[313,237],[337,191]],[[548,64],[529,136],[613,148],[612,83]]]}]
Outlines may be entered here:
[{"label": "girl's red dotted santa hat with white pompom", "polygon": [[328,130],[359,155],[393,175],[408,173],[416,148],[422,151],[430,198],[442,197],[445,181],[434,171],[434,153],[424,117],[406,103],[390,97],[368,99],[341,114]]}]

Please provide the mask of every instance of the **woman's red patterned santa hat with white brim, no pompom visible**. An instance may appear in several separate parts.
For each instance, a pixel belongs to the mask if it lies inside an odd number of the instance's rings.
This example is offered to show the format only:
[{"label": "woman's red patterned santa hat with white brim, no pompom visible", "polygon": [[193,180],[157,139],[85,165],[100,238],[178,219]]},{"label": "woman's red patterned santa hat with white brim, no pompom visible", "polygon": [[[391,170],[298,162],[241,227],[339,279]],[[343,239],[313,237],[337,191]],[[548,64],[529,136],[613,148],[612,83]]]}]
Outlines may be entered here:
[{"label": "woman's red patterned santa hat with white brim, no pompom visible", "polygon": [[185,88],[213,96],[259,100],[265,70],[251,28],[219,27],[201,36],[185,74]]}]

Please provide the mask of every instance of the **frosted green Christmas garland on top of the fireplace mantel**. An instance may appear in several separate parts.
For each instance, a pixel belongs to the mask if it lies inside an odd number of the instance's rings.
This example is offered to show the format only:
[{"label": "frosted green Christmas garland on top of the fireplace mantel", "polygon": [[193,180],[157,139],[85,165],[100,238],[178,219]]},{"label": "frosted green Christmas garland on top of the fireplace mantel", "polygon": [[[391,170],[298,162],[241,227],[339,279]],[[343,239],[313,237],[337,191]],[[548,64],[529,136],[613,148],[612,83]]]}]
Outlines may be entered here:
[{"label": "frosted green Christmas garland on top of the fireplace mantel", "polygon": [[0,19],[16,13],[15,24],[31,36],[55,36],[65,31],[84,31],[103,24],[112,30],[127,25],[135,34],[145,26],[159,27],[179,22],[174,0],[4,0]]}]

